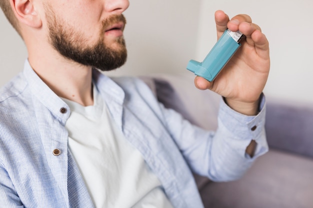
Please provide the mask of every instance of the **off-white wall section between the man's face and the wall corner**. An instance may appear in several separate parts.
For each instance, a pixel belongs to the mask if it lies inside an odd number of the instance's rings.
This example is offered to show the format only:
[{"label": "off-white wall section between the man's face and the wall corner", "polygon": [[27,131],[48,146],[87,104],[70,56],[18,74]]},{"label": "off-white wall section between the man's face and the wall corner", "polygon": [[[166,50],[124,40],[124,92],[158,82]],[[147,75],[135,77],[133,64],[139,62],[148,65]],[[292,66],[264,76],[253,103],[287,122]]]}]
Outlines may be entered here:
[{"label": "off-white wall section between the man's face and the wall corner", "polygon": [[196,53],[201,0],[130,0],[128,59],[116,74],[180,73]]}]

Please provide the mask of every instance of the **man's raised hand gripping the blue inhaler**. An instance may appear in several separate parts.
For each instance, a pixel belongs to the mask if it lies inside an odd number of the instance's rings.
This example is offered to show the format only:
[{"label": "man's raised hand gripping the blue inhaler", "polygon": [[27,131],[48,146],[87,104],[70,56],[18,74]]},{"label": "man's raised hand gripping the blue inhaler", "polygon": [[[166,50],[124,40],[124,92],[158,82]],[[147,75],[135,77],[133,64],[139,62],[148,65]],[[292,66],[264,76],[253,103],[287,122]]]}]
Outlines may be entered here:
[{"label": "man's raised hand gripping the blue inhaler", "polygon": [[221,70],[217,77],[208,82],[202,77],[194,79],[198,89],[210,89],[225,98],[233,110],[256,115],[258,99],[269,73],[269,47],[265,35],[258,25],[246,14],[238,14],[229,21],[221,10],[215,12],[217,38],[226,28],[239,30],[245,35],[241,47]]}]

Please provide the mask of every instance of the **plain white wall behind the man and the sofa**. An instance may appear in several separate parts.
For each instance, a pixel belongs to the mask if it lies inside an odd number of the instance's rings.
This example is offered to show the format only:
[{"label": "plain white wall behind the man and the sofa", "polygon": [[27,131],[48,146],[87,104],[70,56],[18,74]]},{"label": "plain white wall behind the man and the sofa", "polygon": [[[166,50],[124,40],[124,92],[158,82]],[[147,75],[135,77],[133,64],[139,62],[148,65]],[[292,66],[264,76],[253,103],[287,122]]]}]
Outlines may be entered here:
[{"label": "plain white wall behind the man and the sofa", "polygon": [[[313,102],[313,1],[311,0],[130,0],[125,12],[128,60],[110,75],[190,74],[216,41],[214,11],[249,14],[270,42],[268,96]],[[0,86],[18,71],[25,47],[0,12]]]}]

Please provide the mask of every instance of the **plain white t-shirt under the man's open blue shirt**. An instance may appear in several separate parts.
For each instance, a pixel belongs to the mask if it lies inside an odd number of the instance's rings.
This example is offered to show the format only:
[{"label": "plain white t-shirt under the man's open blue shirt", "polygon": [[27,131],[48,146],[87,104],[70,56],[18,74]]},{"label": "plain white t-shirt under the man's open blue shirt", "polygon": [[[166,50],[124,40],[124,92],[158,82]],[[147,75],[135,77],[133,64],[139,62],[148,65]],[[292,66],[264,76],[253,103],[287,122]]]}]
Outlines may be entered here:
[{"label": "plain white t-shirt under the man's open blue shirt", "polygon": [[125,140],[93,89],[93,106],[63,99],[68,145],[96,208],[172,208],[141,154]]}]

